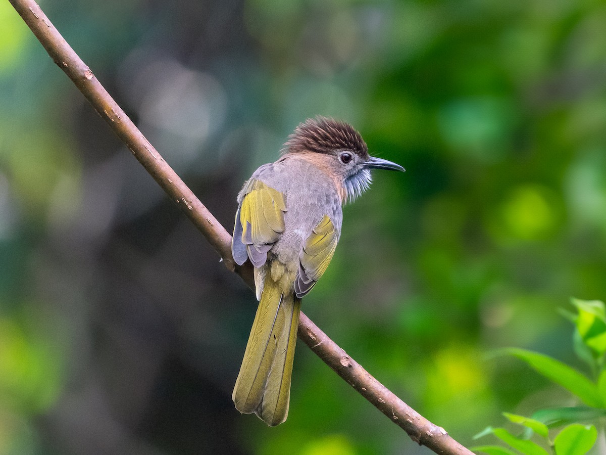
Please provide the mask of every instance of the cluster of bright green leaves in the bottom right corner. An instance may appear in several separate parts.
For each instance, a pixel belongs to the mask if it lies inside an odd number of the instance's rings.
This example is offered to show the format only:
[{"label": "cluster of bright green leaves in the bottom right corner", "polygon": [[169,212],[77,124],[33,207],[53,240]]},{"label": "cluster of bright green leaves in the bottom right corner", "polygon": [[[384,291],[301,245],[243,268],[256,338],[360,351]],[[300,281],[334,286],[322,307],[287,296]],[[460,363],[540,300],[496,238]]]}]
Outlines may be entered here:
[{"label": "cluster of bright green leaves in the bottom right corner", "polygon": [[[504,413],[510,422],[522,425],[525,428],[521,436],[514,436],[505,428],[488,426],[476,435],[476,439],[493,434],[525,455],[547,455],[548,449],[556,455],[584,455],[588,453],[598,438],[598,430],[602,434],[601,450],[604,451],[604,425],[602,418],[606,416],[606,307],[601,300],[572,299],[577,313],[562,311],[574,323],[573,345],[574,351],[583,362],[588,363],[593,373],[594,381],[571,368],[565,363],[552,357],[527,351],[526,349],[507,348],[502,352],[511,354],[524,360],[536,372],[561,385],[573,394],[581,406],[567,406],[560,408],[538,409],[532,417],[518,416]],[[583,425],[593,422],[595,425]],[[550,438],[551,428],[562,428],[559,433]],[[530,440],[536,435],[541,445]],[[547,450],[544,448],[547,447]],[[485,445],[473,448],[474,451],[489,455],[508,455],[513,452],[508,448],[495,445]],[[599,449],[596,448],[596,451]],[[598,453],[598,452],[596,452]]]}]

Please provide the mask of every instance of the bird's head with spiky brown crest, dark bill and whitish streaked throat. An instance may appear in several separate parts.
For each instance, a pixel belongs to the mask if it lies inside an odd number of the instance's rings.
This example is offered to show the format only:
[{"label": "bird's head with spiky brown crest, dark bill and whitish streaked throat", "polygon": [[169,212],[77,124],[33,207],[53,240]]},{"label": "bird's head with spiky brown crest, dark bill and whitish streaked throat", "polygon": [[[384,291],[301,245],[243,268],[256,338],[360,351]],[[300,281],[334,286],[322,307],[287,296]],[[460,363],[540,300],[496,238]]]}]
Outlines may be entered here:
[{"label": "bird's head with spiky brown crest, dark bill and whitish streaked throat", "polygon": [[404,172],[404,167],[368,155],[368,147],[360,133],[347,123],[331,118],[308,118],[288,138],[283,153],[304,154],[335,180],[341,182],[345,197],[353,201],[368,189],[370,169]]}]

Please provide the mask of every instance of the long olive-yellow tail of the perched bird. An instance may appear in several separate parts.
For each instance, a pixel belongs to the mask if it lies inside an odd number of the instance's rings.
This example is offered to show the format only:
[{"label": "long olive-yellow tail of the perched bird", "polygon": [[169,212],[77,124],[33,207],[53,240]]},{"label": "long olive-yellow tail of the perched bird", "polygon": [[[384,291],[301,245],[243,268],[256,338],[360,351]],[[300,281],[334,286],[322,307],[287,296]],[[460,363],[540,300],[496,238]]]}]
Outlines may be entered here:
[{"label": "long olive-yellow tail of the perched bird", "polygon": [[267,425],[286,420],[301,299],[282,292],[269,274],[231,398]]}]

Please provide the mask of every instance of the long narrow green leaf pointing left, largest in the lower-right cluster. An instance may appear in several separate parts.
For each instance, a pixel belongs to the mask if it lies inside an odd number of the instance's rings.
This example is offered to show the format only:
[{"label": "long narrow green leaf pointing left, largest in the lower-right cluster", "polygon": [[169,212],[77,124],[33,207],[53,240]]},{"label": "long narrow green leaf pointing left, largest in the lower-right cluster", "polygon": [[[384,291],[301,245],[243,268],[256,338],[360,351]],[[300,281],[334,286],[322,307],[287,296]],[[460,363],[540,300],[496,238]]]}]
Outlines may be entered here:
[{"label": "long narrow green leaf pointing left, largest in the lower-right cluster", "polygon": [[504,351],[524,360],[536,372],[568,389],[586,405],[593,406],[594,408],[604,406],[598,387],[587,379],[587,376],[579,373],[576,369],[559,362],[559,360],[539,354],[539,352],[517,348],[505,349]]}]

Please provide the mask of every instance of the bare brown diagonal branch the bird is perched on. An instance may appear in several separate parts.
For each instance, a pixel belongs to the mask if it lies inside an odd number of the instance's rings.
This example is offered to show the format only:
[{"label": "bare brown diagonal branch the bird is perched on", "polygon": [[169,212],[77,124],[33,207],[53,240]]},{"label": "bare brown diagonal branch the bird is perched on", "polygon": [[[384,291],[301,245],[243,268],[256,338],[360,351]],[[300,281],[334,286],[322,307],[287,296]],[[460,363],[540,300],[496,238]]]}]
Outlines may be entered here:
[{"label": "bare brown diagonal branch the bird is perched on", "polygon": [[[33,0],[9,0],[25,23],[32,29],[48,55],[76,84],[82,95],[90,101],[101,117],[126,144],[158,184],[175,201],[204,237],[221,255],[225,266],[238,273],[248,286],[253,287],[252,268],[249,263],[236,267],[231,257],[231,235],[196,198],[151,146],[113,98],[107,93],[93,72],[76,55],[61,34],[55,29],[38,4]],[[412,440],[439,454],[471,454],[467,448],[452,439],[446,431],[422,417],[399,399],[339,348],[310,318],[301,313],[299,338],[308,345],[330,368],[347,381],[373,406],[401,426]]]}]

